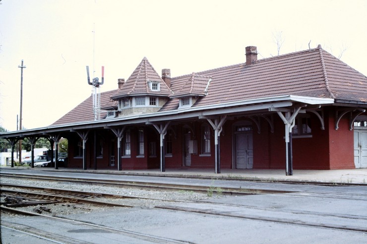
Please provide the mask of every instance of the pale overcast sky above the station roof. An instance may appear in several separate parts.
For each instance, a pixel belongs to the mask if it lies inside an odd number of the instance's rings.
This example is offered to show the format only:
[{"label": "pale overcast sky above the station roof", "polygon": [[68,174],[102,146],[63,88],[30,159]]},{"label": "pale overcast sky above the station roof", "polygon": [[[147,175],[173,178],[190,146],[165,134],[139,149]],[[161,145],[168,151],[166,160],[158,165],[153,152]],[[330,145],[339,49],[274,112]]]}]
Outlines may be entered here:
[{"label": "pale overcast sky above the station roof", "polygon": [[[171,76],[323,49],[367,75],[366,0],[1,0],[0,126],[51,125],[88,98],[86,65],[101,92],[147,57]],[[94,70],[94,72],[93,72]]]}]

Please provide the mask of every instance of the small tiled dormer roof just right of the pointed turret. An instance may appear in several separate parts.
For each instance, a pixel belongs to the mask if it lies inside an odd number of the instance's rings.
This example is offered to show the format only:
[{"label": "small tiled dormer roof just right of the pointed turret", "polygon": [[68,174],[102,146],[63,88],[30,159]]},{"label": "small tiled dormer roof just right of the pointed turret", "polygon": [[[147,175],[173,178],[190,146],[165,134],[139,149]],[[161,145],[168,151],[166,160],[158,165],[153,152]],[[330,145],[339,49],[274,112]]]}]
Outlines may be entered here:
[{"label": "small tiled dormer roof just right of the pointed turret", "polygon": [[211,77],[198,75],[195,72],[187,79],[182,88],[170,98],[183,98],[188,96],[202,97],[206,95],[206,87],[211,81]]}]

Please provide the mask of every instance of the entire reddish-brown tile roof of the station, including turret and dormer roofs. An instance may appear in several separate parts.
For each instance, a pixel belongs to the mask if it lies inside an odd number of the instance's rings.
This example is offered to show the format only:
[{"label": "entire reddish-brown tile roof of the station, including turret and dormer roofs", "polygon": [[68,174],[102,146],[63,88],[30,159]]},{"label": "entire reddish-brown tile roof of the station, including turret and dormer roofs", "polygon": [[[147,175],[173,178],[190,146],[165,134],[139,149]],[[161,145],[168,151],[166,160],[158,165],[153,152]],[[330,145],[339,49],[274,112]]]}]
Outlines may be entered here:
[{"label": "entire reddish-brown tile roof of the station, including turret and dormer roofs", "polygon": [[[206,94],[209,77],[212,81]],[[160,91],[151,91],[147,81],[160,82]],[[367,77],[318,47],[259,59],[251,65],[240,63],[175,77],[168,88],[144,57],[121,90],[101,94],[101,104],[106,108],[116,107],[116,100],[111,98],[137,95],[171,95],[160,111],[178,109],[181,96],[198,96],[193,106],[282,95],[334,98],[336,102],[367,105]],[[101,118],[105,115],[102,113]],[[54,125],[88,120],[94,120],[92,97]]]}]

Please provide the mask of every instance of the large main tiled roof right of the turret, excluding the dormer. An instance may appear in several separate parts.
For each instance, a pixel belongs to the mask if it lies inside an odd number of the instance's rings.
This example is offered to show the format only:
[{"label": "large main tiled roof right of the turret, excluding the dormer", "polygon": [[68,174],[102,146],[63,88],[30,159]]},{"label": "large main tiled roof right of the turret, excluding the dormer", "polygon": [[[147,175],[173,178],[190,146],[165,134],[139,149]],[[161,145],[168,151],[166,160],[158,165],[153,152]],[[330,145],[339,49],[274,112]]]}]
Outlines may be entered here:
[{"label": "large main tiled roof right of the turret, excluding the dormer", "polygon": [[[322,64],[323,62],[323,64]],[[252,98],[295,95],[345,101],[367,99],[367,78],[320,47],[257,60],[254,64],[198,72],[213,78],[208,95],[193,106],[219,104]],[[190,75],[171,80],[171,89],[180,92]],[[172,97],[172,96],[171,96]],[[161,109],[178,107],[170,100]]]}]

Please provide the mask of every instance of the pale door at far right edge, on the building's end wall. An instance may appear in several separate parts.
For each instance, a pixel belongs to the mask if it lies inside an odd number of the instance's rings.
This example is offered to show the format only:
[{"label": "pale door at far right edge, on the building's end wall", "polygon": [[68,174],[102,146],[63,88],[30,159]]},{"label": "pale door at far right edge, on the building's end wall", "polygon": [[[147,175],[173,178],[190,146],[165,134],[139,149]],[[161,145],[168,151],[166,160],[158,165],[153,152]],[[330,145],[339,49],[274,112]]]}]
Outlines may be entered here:
[{"label": "pale door at far right edge, on the building's end wall", "polygon": [[354,130],[354,164],[356,168],[367,168],[366,130]]}]

